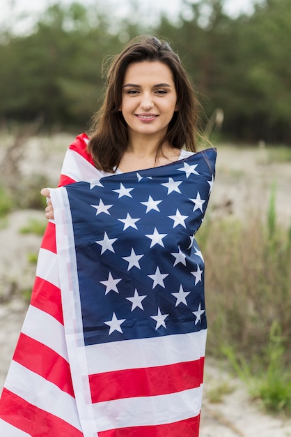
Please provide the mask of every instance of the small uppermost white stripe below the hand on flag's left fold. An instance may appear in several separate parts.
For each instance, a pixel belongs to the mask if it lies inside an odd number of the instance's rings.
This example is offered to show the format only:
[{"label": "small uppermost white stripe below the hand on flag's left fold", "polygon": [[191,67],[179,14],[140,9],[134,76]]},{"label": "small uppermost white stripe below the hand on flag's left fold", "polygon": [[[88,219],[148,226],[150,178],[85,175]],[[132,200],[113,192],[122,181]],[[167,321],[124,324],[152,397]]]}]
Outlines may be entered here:
[{"label": "small uppermost white stripe below the hand on flag's left fold", "polygon": [[56,253],[40,248],[38,254],[38,265],[36,276],[45,279],[54,286],[60,288],[60,278],[58,275],[58,257]]}]

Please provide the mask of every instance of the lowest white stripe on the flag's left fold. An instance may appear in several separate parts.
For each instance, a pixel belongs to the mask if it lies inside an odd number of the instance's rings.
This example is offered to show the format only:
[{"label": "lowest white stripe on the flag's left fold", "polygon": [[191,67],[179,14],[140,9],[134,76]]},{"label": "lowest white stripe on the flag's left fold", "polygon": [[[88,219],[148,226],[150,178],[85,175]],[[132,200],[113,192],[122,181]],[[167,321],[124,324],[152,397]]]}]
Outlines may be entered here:
[{"label": "lowest white stripe on the flag's left fold", "polygon": [[13,361],[5,387],[32,405],[81,430],[75,399],[37,373]]}]

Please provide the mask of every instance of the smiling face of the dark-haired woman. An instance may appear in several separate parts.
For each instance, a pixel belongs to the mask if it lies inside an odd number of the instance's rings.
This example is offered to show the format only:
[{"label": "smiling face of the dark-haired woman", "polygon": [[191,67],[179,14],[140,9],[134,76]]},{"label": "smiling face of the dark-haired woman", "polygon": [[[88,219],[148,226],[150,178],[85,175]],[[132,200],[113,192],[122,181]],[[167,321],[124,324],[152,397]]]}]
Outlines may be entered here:
[{"label": "smiling face of the dark-haired woman", "polygon": [[170,68],[160,61],[129,64],[123,81],[120,110],[129,138],[165,135],[177,108],[177,94]]}]

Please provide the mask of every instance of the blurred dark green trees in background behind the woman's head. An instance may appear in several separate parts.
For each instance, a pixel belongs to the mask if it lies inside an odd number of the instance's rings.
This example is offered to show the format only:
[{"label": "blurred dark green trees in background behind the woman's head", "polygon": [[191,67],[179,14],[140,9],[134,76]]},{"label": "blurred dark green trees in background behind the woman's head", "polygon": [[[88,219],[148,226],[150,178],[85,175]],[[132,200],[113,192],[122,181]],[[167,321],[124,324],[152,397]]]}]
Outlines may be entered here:
[{"label": "blurred dark green trees in background behind the woman's head", "polygon": [[132,16],[113,23],[97,6],[57,3],[31,34],[0,31],[0,119],[41,116],[48,128],[86,129],[102,96],[104,57],[152,33],[178,51],[207,116],[223,109],[223,135],[291,144],[290,0],[265,0],[237,18],[223,12],[222,0],[182,3],[178,20],[162,15],[155,29]]}]

